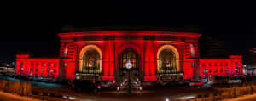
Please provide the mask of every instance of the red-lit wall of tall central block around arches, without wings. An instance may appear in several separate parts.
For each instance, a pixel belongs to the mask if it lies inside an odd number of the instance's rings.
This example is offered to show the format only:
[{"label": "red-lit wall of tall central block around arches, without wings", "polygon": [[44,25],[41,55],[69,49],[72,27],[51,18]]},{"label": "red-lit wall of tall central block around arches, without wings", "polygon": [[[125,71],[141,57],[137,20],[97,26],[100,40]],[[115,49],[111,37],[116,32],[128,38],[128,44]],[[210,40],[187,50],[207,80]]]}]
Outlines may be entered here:
[{"label": "red-lit wall of tall central block around arches, without wings", "polygon": [[[133,49],[139,55],[140,70],[144,81],[156,81],[158,75],[159,49],[171,46],[177,50],[178,68],[184,79],[199,76],[197,33],[168,31],[86,31],[59,34],[61,37],[61,57],[68,57],[69,62],[64,70],[67,79],[74,79],[79,70],[79,55],[86,46],[93,45],[102,52],[102,80],[114,81],[119,70],[120,54],[125,49]],[[193,54],[191,54],[191,44]],[[68,52],[67,52],[68,48]],[[66,55],[65,55],[66,49]],[[61,63],[67,62],[62,59]],[[192,63],[195,63],[192,68]],[[197,75],[195,75],[197,73]]]}]

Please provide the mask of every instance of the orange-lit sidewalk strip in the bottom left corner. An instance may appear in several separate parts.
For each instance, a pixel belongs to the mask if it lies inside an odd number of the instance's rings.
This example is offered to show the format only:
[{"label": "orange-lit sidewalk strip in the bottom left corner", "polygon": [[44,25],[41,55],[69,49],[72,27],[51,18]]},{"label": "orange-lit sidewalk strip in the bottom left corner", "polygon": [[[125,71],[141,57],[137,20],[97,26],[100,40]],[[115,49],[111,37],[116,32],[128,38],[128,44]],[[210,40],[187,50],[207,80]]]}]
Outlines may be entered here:
[{"label": "orange-lit sidewalk strip in the bottom left corner", "polygon": [[41,101],[39,99],[22,97],[20,95],[16,95],[12,93],[4,93],[2,91],[0,91],[0,96],[1,96],[1,100],[7,100],[7,101]]}]

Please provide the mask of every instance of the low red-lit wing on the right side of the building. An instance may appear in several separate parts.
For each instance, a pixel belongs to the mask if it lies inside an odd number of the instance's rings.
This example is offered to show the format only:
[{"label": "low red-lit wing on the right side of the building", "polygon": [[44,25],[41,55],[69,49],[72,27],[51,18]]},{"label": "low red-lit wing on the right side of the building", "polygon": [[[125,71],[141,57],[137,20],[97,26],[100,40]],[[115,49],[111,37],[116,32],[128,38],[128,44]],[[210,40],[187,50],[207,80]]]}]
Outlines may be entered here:
[{"label": "low red-lit wing on the right side of the building", "polygon": [[242,75],[241,55],[230,55],[228,59],[200,59],[200,74],[201,78]]}]

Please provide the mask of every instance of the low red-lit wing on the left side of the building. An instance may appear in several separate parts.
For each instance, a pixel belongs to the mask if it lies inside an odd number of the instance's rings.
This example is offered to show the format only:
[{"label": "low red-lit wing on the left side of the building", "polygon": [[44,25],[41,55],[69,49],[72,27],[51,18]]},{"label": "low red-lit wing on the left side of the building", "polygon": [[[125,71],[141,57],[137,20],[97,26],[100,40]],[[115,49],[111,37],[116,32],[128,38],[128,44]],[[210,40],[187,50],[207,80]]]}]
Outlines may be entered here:
[{"label": "low red-lit wing on the left side of the building", "polygon": [[29,58],[28,54],[16,55],[16,74],[57,78],[60,59]]}]

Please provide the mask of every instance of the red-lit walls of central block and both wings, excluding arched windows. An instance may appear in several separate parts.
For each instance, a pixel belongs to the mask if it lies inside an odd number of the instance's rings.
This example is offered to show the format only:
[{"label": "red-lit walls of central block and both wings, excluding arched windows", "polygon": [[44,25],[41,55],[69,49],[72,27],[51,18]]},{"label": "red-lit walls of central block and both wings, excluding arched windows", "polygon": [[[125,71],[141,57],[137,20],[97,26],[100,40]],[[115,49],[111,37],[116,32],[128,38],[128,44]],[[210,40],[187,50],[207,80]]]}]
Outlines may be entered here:
[{"label": "red-lit walls of central block and both wings, excluding arched windows", "polygon": [[[125,49],[132,49],[138,54],[140,76],[143,81],[157,81],[159,53],[163,49],[171,49],[177,58],[178,72],[175,75],[183,79],[203,77],[203,69],[212,70],[212,75],[222,75],[215,68],[229,69],[227,73],[242,73],[241,56],[230,56],[229,59],[200,59],[197,33],[170,32],[170,31],[84,31],[58,34],[61,37],[60,58],[42,59],[30,58],[29,55],[17,55],[16,74],[32,76],[49,76],[47,69],[54,69],[54,77],[73,80],[76,72],[81,68],[81,57],[88,48],[94,48],[101,55],[101,75],[103,81],[116,81],[119,79],[119,60]],[[202,63],[228,62],[228,66],[202,66]],[[22,65],[20,64],[22,63]],[[31,65],[35,63],[38,65]],[[48,66],[47,64],[55,64]],[[44,65],[46,64],[46,66]],[[21,70],[22,67],[22,70]],[[173,75],[173,74],[172,74]],[[227,75],[227,74],[224,74]]]}]

